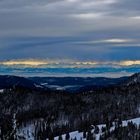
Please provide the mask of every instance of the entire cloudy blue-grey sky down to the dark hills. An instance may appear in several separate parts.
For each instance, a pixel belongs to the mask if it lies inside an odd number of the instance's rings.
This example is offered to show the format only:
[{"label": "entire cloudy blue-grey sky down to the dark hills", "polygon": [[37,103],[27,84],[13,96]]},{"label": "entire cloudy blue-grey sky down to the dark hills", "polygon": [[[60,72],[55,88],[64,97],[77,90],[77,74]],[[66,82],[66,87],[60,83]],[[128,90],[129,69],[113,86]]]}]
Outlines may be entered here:
[{"label": "entire cloudy blue-grey sky down to the dark hills", "polygon": [[0,0],[0,74],[140,72],[139,0]]}]

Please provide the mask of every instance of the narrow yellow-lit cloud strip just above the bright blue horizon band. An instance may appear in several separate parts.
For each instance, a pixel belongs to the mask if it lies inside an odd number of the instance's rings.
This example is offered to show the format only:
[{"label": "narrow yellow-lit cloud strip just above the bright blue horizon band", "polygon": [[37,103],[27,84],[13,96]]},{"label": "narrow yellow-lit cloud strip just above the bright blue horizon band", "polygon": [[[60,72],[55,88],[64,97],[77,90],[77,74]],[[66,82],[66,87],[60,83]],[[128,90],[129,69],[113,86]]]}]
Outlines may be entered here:
[{"label": "narrow yellow-lit cloud strip just above the bright blue horizon band", "polygon": [[10,60],[0,61],[4,66],[36,67],[36,68],[91,68],[91,67],[126,67],[140,65],[140,60],[124,61],[76,61],[76,60]]}]

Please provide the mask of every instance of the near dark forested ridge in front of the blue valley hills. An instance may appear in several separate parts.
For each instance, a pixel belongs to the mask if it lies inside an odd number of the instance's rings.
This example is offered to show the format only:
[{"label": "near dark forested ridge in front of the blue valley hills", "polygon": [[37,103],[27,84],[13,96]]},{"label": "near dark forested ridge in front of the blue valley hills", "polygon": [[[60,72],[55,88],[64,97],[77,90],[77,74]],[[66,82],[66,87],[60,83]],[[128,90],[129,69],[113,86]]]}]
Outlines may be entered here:
[{"label": "near dark forested ridge in front of the blue valley hills", "polygon": [[5,89],[0,94],[0,138],[21,139],[16,132],[28,124],[35,127],[34,138],[44,140],[75,130],[88,132],[91,125],[110,126],[115,120],[140,117],[140,83],[132,80],[76,94],[22,86]]}]

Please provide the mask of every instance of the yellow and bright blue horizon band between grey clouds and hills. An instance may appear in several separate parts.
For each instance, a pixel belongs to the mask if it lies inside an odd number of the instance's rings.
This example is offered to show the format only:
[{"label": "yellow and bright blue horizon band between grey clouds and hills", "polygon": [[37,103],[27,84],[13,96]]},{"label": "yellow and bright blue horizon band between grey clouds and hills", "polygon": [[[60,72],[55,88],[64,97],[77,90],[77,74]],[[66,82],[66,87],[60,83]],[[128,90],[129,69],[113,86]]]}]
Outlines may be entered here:
[{"label": "yellow and bright blue horizon band between grey clouds and hills", "polygon": [[120,77],[140,71],[140,60],[10,60],[0,62],[0,74],[22,76]]}]

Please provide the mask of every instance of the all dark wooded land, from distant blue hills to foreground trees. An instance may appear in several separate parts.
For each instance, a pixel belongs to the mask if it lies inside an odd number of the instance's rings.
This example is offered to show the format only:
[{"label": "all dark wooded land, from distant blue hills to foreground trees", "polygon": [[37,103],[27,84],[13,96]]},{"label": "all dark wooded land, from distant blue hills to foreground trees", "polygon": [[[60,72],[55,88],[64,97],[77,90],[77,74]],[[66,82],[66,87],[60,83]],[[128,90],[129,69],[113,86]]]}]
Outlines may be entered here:
[{"label": "all dark wooded land, from distant blue hills to foreground trees", "polygon": [[[0,76],[0,79],[3,80],[0,85],[1,140],[53,140],[57,136],[64,137],[63,134],[81,136],[82,132],[89,133],[90,138],[85,139],[92,140],[97,136],[93,127],[99,124],[106,126],[107,139],[119,136],[113,131],[110,133],[113,126],[119,131],[124,127],[120,125],[123,120],[140,117],[139,73],[119,79],[64,77],[60,81],[59,78],[42,81],[42,78],[15,76]],[[42,83],[82,87],[75,91],[58,90]],[[104,138],[104,133],[98,134]]]}]

